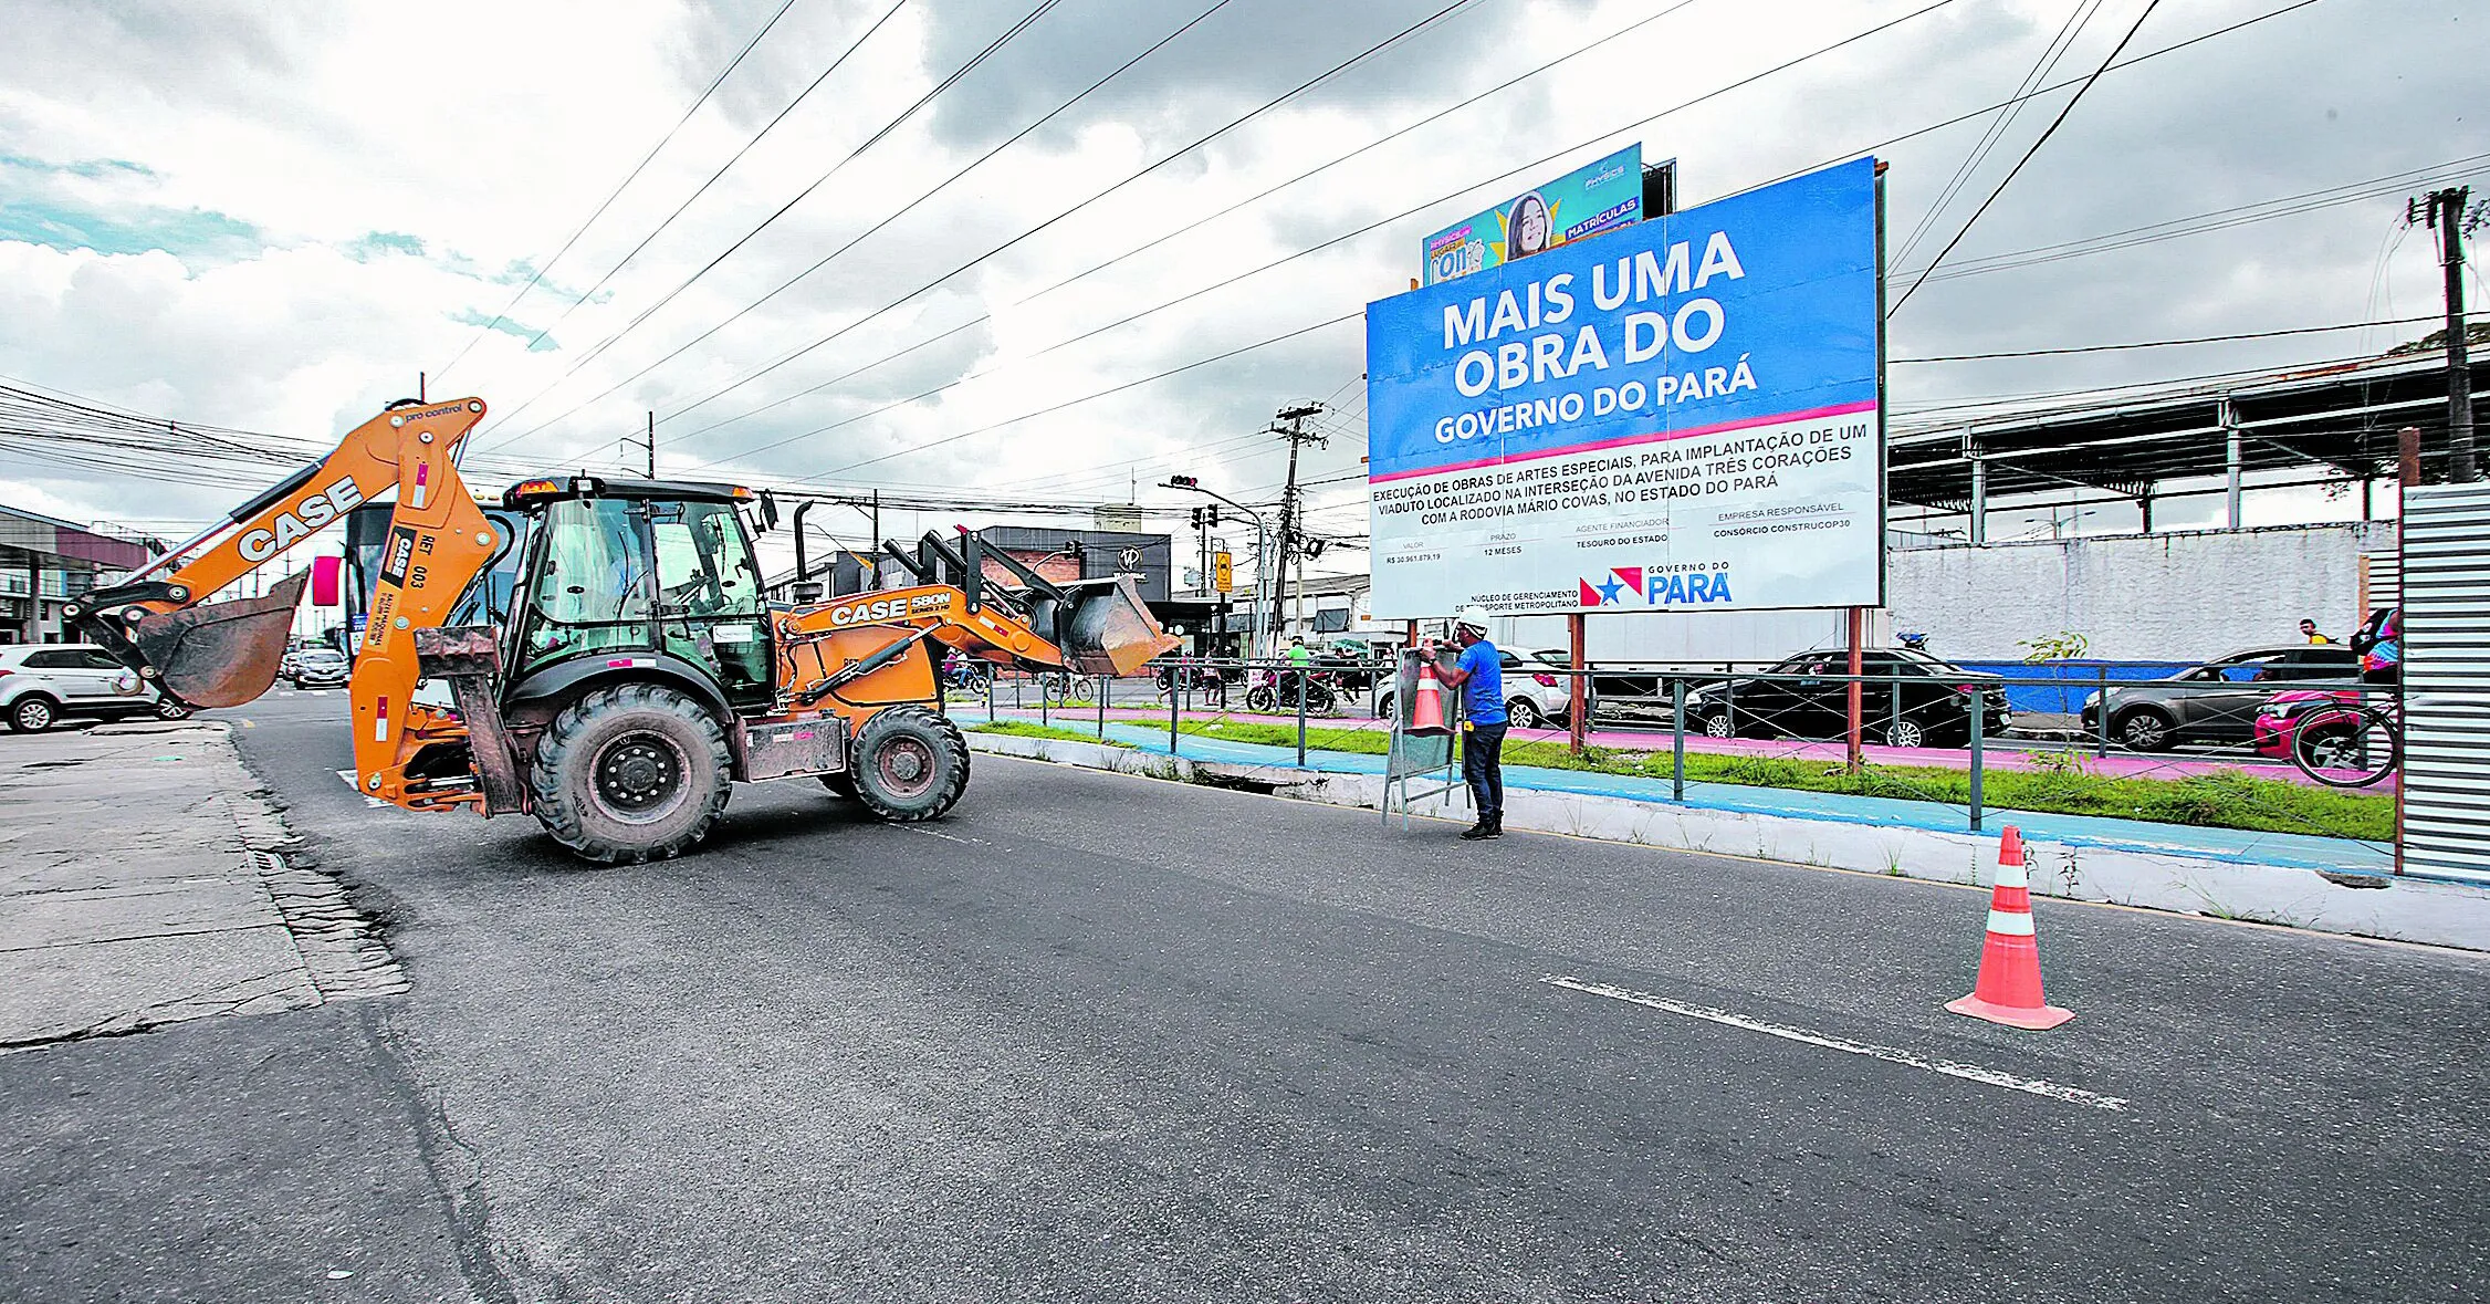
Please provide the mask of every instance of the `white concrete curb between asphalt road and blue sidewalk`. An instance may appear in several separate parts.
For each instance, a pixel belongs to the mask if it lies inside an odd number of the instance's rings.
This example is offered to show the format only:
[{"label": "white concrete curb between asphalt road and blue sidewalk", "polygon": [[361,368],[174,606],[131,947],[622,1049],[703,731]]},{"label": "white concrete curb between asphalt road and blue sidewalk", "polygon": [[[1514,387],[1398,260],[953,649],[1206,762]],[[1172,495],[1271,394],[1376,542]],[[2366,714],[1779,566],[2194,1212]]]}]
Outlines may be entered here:
[{"label": "white concrete curb between asphalt road and blue sidewalk", "polygon": [[[1150,779],[1250,786],[1327,806],[1382,809],[1384,781],[1374,774],[1275,769],[1267,764],[1195,761],[1096,742],[1031,739],[969,732],[969,747],[1001,757],[1108,769]],[[1464,814],[1449,799],[1447,814]],[[1990,881],[1997,839],[1942,834],[1887,824],[1800,819],[1589,796],[1569,791],[1506,789],[1504,824],[1539,834],[1626,841],[1673,851],[1755,856],[1895,878],[1937,883]],[[2338,876],[2313,869],[2211,856],[2024,841],[2032,891],[2069,901],[2102,901],[2191,916],[2276,923],[2358,938],[2413,941],[2490,951],[2490,891],[2418,878]],[[2375,886],[2348,886],[2375,883]]]}]

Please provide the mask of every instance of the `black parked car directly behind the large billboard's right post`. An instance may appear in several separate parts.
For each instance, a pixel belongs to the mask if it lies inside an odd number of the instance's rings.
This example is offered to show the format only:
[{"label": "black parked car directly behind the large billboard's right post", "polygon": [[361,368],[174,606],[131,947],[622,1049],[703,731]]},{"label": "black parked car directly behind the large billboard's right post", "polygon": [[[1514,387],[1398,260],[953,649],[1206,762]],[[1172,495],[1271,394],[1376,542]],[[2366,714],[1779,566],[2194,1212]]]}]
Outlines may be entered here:
[{"label": "black parked car directly behind the large billboard's right post", "polygon": [[[1790,737],[1838,739],[1850,729],[1850,692],[1843,674],[1850,652],[1800,652],[1768,677],[1721,679],[1686,692],[1686,727],[1716,739]],[[2004,679],[1962,669],[1927,652],[1875,650],[1860,654],[1860,717],[1872,742],[1890,747],[1950,747],[1970,742],[1970,697],[1982,702],[1980,729],[2004,734],[2014,724]]]}]

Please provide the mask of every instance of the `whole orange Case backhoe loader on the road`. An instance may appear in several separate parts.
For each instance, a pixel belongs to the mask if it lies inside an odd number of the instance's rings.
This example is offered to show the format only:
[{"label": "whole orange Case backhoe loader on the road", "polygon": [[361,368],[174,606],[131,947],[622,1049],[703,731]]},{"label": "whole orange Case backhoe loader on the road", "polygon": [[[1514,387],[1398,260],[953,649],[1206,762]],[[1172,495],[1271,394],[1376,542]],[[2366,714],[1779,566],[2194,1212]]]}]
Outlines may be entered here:
[{"label": "whole orange Case backhoe loader on the road", "polygon": [[[941,714],[939,650],[1133,674],[1175,645],[1130,577],[1053,585],[971,533],[914,555],[884,543],[909,587],[767,602],[752,533],[777,505],[737,485],[540,478],[488,515],[458,475],[483,413],[391,403],[70,617],[174,702],[239,707],[276,679],[314,570],[204,600],[386,510],[356,567],[356,789],[413,811],[528,811],[603,864],[682,854],[732,781],[814,776],[881,819],[941,816],[969,747]],[[989,560],[1018,582],[989,580]],[[421,684],[446,702],[418,702]]]}]

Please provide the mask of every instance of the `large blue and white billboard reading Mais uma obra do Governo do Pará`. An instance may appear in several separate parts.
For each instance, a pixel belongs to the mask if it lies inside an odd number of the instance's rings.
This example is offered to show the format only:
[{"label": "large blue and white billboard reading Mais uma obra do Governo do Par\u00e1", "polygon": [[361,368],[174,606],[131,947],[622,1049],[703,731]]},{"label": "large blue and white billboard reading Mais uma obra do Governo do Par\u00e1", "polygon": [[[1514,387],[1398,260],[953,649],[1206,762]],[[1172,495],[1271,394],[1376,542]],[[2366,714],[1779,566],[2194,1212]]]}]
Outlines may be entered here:
[{"label": "large blue and white billboard reading Mais uma obra do Governo do Par\u00e1", "polygon": [[1882,602],[1875,162],[1367,306],[1374,617]]}]

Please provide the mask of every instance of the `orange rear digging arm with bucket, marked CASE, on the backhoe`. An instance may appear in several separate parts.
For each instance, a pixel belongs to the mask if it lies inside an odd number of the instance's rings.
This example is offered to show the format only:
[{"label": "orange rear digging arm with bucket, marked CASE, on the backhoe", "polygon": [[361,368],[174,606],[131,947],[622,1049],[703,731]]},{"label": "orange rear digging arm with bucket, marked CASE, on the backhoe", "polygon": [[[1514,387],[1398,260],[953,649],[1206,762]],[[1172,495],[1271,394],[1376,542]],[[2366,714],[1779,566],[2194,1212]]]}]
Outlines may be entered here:
[{"label": "orange rear digging arm with bucket, marked CASE, on the backhoe", "polygon": [[[192,707],[239,707],[269,692],[284,659],[309,572],[261,597],[207,602],[266,567],[359,503],[396,490],[378,582],[354,659],[354,764],[364,791],[406,806],[436,804],[408,789],[406,761],[463,729],[411,702],[413,630],[438,627],[493,557],[493,525],[458,478],[458,445],[483,421],[481,398],[393,403],[336,450],[237,508],[129,580],[87,592],[80,630],[129,669]],[[468,796],[471,799],[471,796]]]}]

